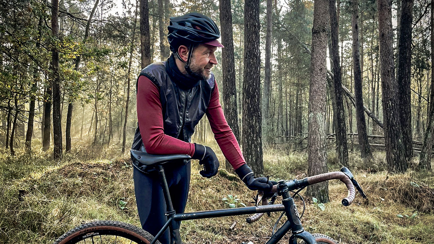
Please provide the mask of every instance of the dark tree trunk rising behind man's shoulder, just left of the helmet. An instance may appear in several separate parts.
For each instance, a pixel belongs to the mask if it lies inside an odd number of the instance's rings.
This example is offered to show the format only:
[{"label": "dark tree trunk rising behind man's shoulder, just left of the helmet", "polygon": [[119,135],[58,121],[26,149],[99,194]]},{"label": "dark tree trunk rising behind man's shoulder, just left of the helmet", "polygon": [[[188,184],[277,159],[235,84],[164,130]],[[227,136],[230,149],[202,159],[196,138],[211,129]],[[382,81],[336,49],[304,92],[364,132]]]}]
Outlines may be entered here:
[{"label": "dark tree trunk rising behind man's shoulder, just left of the helmet", "polygon": [[141,68],[145,68],[151,63],[151,34],[149,32],[149,6],[148,6],[148,0],[139,0],[139,1],[140,1]]}]

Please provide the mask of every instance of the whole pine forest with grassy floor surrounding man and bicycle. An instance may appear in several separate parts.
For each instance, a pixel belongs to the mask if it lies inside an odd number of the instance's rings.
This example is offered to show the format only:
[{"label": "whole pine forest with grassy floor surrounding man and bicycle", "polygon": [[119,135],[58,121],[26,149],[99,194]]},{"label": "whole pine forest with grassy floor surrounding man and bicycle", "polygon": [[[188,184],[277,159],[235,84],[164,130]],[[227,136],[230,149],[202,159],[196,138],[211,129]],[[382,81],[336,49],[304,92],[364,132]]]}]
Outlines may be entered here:
[{"label": "whole pine forest with grassy floor surrounding man and bicycle", "polygon": [[[53,243],[95,219],[140,225],[136,82],[171,55],[169,18],[191,12],[220,28],[212,72],[255,174],[346,166],[366,189],[343,207],[342,185],[309,186],[306,230],[434,241],[434,0],[0,0],[0,243]],[[192,164],[187,210],[228,208],[227,195],[252,205],[206,116],[191,142],[212,147],[220,169],[205,179]],[[243,218],[185,221],[181,234],[265,243],[277,216]]]}]

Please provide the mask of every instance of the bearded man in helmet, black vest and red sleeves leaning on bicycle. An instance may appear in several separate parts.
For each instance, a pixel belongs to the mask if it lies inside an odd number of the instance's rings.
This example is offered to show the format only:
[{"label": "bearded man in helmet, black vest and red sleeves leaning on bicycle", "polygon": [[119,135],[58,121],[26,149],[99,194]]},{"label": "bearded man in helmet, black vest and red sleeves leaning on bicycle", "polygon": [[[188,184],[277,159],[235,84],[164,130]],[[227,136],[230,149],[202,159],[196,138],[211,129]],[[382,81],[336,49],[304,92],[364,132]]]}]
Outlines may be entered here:
[{"label": "bearded man in helmet, black vest and red sleeves leaning on bicycle", "polygon": [[[269,190],[273,183],[255,178],[247,166],[237,139],[228,126],[219,102],[217,83],[211,68],[217,65],[214,55],[220,31],[216,23],[200,13],[171,17],[168,41],[171,56],[144,68],[137,81],[138,128],[132,149],[151,154],[188,154],[204,165],[200,174],[217,174],[219,161],[214,151],[190,143],[194,127],[207,115],[211,129],[224,156],[251,190]],[[134,187],[142,228],[156,235],[167,221],[166,205],[158,174],[146,173],[133,162]],[[173,207],[184,212],[190,185],[190,160],[164,166]],[[174,229],[179,223],[174,223]],[[179,231],[166,231],[161,244],[171,244]],[[175,235],[175,237],[174,237]],[[178,234],[179,235],[179,234]]]}]

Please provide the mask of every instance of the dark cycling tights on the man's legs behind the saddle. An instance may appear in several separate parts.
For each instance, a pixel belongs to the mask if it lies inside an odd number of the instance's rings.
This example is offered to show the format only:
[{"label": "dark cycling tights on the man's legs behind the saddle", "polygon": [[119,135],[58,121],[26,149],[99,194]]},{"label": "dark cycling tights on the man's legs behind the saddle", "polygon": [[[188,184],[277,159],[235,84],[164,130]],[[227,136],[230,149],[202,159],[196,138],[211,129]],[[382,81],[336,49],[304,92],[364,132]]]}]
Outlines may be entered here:
[{"label": "dark cycling tights on the man's legs behind the saddle", "polygon": [[[190,162],[181,166],[174,166],[171,163],[164,166],[173,208],[176,213],[183,213],[187,203],[190,188],[190,167]],[[160,184],[161,180],[158,172],[145,174],[135,167],[133,169],[134,190],[141,226],[145,231],[155,236],[167,222],[167,216],[164,215],[167,210],[163,189]],[[180,222],[174,221],[174,229],[179,228],[179,224]],[[161,244],[173,243],[169,229],[161,235],[158,241]]]}]

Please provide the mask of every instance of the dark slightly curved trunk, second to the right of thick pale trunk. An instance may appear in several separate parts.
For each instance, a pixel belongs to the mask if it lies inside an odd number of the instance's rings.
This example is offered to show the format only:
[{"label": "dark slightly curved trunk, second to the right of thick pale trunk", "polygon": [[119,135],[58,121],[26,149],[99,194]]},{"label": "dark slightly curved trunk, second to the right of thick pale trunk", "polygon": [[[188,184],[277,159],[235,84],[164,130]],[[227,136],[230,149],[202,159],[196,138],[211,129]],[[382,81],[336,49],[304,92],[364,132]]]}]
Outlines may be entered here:
[{"label": "dark slightly curved trunk, second to the right of thick pale trunk", "polygon": [[362,159],[371,159],[372,153],[368,143],[365,112],[363,111],[362,71],[358,42],[358,0],[352,1],[352,56],[354,71],[354,96],[357,121],[358,142]]}]

